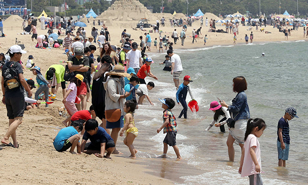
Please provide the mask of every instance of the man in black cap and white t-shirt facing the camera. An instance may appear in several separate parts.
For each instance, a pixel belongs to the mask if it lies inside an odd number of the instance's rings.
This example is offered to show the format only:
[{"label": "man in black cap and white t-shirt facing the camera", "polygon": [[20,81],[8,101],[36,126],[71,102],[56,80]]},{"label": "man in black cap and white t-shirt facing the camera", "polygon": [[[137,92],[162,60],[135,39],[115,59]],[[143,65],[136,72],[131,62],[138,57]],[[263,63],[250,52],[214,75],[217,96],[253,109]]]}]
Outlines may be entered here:
[{"label": "man in black cap and white t-shirt facing the camera", "polygon": [[131,47],[132,50],[128,51],[126,54],[126,64],[128,63],[128,67],[132,67],[134,72],[137,74],[142,66],[141,52],[140,50],[137,50],[138,44],[136,42],[133,42]]}]

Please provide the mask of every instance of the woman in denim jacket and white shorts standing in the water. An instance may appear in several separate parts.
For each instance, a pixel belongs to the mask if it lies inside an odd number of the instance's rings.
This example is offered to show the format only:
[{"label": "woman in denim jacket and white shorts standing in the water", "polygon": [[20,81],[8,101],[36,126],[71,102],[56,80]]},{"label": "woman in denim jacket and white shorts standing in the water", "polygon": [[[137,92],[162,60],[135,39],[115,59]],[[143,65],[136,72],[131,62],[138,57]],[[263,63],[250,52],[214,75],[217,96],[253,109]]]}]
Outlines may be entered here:
[{"label": "woman in denim jacket and white shorts standing in the water", "polygon": [[232,118],[235,121],[234,127],[230,128],[229,130],[229,136],[227,139],[230,161],[234,161],[235,152],[233,143],[235,140],[239,143],[241,149],[243,150],[247,120],[250,119],[247,96],[244,90],[247,90],[247,82],[245,78],[242,76],[235,77],[233,79],[233,91],[237,93],[237,95],[232,100],[232,105],[227,105],[223,100],[220,102],[222,106],[228,108],[229,113],[232,115]]}]

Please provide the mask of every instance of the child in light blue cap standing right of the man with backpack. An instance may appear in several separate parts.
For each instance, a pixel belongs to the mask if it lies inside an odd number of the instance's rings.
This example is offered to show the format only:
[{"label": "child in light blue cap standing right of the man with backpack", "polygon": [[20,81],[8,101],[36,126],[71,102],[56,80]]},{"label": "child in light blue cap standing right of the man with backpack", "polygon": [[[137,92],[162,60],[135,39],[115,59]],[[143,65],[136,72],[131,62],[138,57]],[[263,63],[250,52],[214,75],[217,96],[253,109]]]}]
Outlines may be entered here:
[{"label": "child in light blue cap standing right of the man with backpack", "polygon": [[[40,95],[42,92],[44,92],[45,94],[45,101],[49,102],[49,88],[51,87],[51,85],[49,84],[49,82],[43,77],[42,73],[41,73],[41,68],[35,66],[34,68],[30,69],[33,73],[33,75],[36,75],[36,82],[38,83],[38,85],[40,85],[40,87],[37,88],[36,92],[35,92],[35,100],[38,100],[38,95]],[[46,107],[48,107],[48,104],[46,103]]]}]

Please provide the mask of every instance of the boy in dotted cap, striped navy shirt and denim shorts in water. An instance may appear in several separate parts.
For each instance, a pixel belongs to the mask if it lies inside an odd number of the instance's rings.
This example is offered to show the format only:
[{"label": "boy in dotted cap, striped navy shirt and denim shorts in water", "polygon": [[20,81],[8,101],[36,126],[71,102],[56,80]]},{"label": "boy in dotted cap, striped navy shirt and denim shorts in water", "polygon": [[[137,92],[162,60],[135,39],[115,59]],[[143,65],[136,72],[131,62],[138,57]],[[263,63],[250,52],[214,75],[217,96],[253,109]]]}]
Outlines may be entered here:
[{"label": "boy in dotted cap, striped navy shirt and denim shorts in water", "polygon": [[288,152],[290,148],[290,127],[288,121],[293,118],[298,118],[296,115],[296,108],[287,107],[284,116],[278,121],[277,130],[277,150],[278,150],[278,166],[285,167],[285,161],[288,159]]}]

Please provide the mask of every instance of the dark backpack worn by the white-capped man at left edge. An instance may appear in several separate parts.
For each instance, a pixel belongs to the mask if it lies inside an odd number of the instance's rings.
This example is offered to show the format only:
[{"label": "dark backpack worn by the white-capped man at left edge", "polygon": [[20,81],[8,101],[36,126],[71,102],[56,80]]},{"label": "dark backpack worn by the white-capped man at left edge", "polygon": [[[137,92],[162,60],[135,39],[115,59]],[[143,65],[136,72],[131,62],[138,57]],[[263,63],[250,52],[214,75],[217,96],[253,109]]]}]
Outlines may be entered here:
[{"label": "dark backpack worn by the white-capped man at left edge", "polygon": [[14,67],[16,62],[13,62],[8,68],[2,71],[2,76],[4,78],[4,86],[6,89],[13,89],[21,86],[21,82],[18,77],[17,69]]}]

